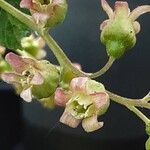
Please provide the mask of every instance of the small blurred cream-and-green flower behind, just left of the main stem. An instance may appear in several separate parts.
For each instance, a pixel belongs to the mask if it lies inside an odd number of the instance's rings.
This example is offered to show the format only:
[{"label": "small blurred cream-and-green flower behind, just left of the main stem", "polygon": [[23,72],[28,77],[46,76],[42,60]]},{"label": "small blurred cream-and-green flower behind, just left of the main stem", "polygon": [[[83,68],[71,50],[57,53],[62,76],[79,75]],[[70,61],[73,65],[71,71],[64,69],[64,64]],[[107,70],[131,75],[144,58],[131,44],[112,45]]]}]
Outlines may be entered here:
[{"label": "small blurred cream-and-green flower behind, just left of the main stem", "polygon": [[46,56],[45,42],[41,37],[35,38],[34,35],[21,39],[21,46],[25,52],[36,59],[42,59]]}]

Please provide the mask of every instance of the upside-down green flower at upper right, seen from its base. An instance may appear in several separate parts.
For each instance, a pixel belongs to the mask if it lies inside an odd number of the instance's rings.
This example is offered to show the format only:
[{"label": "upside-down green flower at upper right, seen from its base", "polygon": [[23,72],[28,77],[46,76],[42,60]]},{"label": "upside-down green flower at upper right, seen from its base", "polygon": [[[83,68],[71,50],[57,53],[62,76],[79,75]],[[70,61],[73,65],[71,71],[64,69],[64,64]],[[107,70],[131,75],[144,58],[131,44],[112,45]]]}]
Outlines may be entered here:
[{"label": "upside-down green flower at upper right, seen from its base", "polygon": [[150,5],[139,6],[130,12],[125,1],[116,1],[114,10],[106,0],[101,0],[101,4],[109,17],[100,26],[101,41],[106,45],[109,56],[120,58],[125,51],[135,45],[136,34],[140,31],[140,24],[136,19],[150,12]]}]

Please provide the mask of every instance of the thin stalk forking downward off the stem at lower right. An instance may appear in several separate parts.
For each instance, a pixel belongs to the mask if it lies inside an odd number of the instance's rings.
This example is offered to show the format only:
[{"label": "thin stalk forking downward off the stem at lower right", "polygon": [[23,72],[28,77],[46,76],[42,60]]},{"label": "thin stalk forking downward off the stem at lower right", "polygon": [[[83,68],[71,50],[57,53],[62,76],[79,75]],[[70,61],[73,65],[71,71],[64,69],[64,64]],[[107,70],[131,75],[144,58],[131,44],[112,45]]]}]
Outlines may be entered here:
[{"label": "thin stalk forking downward off the stem at lower right", "polygon": [[138,110],[136,107],[134,106],[126,106],[129,110],[131,110],[132,112],[134,112],[143,122],[145,122],[145,124],[147,125],[150,120],[140,111]]}]

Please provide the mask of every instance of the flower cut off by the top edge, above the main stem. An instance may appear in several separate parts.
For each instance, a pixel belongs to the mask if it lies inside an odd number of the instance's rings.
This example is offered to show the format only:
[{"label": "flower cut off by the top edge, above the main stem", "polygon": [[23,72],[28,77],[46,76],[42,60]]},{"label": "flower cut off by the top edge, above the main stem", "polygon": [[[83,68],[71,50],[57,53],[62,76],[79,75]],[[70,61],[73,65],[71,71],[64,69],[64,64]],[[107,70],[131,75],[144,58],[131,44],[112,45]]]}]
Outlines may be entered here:
[{"label": "flower cut off by the top edge, above the main stem", "polygon": [[66,0],[21,0],[20,7],[29,9],[35,22],[46,27],[63,22],[67,12]]}]

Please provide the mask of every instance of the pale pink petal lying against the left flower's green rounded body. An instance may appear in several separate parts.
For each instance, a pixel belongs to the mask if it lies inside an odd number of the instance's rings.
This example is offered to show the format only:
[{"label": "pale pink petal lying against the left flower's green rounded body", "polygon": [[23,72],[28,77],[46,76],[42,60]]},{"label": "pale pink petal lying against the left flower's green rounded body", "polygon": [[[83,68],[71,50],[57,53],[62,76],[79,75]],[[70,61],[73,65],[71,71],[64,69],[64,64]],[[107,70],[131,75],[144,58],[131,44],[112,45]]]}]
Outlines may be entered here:
[{"label": "pale pink petal lying against the left flower's green rounded body", "polygon": [[30,84],[33,85],[41,85],[43,83],[44,83],[44,78],[39,72],[35,73],[32,80],[30,81]]}]

